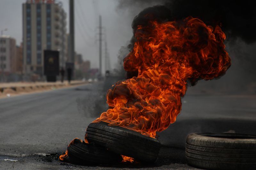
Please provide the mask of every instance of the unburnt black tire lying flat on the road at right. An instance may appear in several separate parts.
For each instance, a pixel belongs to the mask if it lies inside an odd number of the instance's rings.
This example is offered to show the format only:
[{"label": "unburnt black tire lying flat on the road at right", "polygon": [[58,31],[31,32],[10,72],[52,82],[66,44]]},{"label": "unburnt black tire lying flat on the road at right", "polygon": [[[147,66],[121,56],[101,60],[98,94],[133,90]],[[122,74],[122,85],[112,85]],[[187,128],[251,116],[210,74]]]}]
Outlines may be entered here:
[{"label": "unburnt black tire lying flat on the road at right", "polygon": [[201,133],[187,137],[188,164],[204,169],[256,169],[256,136]]}]

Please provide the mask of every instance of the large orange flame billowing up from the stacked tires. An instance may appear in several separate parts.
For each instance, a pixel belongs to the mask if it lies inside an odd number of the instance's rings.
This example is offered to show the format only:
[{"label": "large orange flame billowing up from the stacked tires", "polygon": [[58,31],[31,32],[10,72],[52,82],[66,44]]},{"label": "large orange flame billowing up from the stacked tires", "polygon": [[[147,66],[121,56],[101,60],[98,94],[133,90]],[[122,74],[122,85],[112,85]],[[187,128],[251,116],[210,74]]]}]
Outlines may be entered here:
[{"label": "large orange flame billowing up from the stacked tires", "polygon": [[138,77],[108,90],[109,109],[94,122],[108,122],[155,137],[176,121],[187,82],[225,74],[231,65],[219,26],[197,18],[138,26],[137,41],[124,59],[126,71]]}]

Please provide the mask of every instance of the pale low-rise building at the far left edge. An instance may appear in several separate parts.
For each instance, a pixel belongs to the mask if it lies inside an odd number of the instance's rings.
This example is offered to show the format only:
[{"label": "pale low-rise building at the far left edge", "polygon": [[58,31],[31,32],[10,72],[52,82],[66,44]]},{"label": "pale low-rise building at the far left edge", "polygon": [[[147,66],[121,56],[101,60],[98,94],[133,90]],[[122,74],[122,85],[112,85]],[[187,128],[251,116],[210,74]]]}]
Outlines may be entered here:
[{"label": "pale low-rise building at the far left edge", "polygon": [[16,40],[10,36],[0,37],[0,72],[9,74],[15,72]]}]

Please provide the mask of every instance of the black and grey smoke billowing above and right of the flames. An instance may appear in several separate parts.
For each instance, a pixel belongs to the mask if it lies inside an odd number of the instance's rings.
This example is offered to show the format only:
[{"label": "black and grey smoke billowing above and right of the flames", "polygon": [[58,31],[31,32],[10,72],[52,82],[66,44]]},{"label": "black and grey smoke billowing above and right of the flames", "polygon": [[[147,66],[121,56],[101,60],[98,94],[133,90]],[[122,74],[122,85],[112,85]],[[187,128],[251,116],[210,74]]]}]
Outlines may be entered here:
[{"label": "black and grey smoke billowing above and right of the flames", "polygon": [[[129,3],[128,3],[129,2]],[[154,4],[155,3],[155,4]],[[158,22],[180,20],[188,16],[199,18],[207,25],[221,26],[227,35],[226,46],[232,66],[218,82],[200,82],[193,90],[204,92],[252,92],[256,81],[254,65],[256,6],[245,1],[186,1],[186,0],[120,0],[118,10],[130,11],[133,33],[138,25],[147,25],[153,18]],[[153,6],[155,5],[155,6]],[[149,7],[151,6],[151,7]],[[143,9],[137,16],[134,9]],[[136,41],[131,38],[129,49]],[[133,76],[134,74],[132,74]],[[207,88],[206,88],[207,87]],[[251,88],[251,89],[248,89]],[[217,90],[217,91],[216,91]]]}]

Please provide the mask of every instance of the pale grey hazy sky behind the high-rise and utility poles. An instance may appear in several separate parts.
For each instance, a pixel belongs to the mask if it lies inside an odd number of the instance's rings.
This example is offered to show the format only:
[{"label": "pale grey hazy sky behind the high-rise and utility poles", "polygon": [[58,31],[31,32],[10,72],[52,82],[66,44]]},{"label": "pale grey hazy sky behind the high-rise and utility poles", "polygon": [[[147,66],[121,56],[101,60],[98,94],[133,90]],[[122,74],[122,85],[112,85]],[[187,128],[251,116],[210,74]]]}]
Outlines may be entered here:
[{"label": "pale grey hazy sky behind the high-rise and utility poles", "polygon": [[[22,3],[24,2],[26,0],[0,0],[0,29],[8,28],[4,34],[15,38],[18,45],[22,40]],[[68,14],[69,1],[60,2],[63,3],[63,8]],[[117,5],[117,0],[75,0],[75,50],[83,55],[84,60],[91,61],[91,67],[98,67],[99,62],[99,43],[95,43],[95,28],[99,26],[99,14],[102,15],[102,26],[106,28],[112,68],[117,63],[118,50],[132,37],[132,19],[142,7],[131,13],[128,9],[116,10]],[[67,22],[68,20],[69,17]]]}]

